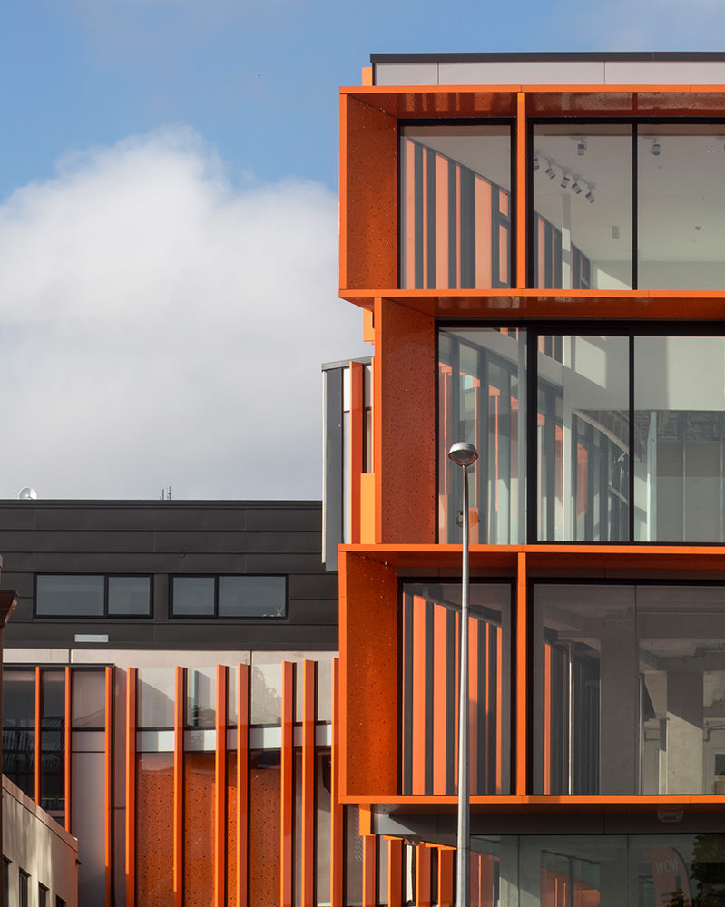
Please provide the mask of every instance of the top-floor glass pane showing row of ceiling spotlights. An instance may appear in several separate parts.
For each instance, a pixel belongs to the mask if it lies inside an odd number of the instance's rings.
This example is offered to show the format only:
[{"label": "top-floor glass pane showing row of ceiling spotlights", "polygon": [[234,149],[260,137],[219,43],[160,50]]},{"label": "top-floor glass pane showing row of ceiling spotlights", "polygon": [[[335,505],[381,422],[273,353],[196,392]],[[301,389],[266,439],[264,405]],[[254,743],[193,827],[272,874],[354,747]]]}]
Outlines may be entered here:
[{"label": "top-floor glass pane showing row of ceiling spotlights", "polygon": [[534,126],[532,286],[632,288],[632,126]]}]

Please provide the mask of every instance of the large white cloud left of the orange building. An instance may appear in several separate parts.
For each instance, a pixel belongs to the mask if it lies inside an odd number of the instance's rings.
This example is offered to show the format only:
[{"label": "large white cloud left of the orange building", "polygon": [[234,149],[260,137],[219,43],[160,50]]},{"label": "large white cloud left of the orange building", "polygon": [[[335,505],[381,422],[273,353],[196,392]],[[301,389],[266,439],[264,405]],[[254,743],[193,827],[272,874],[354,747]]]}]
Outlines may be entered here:
[{"label": "large white cloud left of the orange building", "polygon": [[319,365],[369,352],[328,189],[164,129],[16,190],[0,248],[0,497],[318,496]]}]

